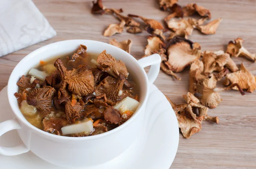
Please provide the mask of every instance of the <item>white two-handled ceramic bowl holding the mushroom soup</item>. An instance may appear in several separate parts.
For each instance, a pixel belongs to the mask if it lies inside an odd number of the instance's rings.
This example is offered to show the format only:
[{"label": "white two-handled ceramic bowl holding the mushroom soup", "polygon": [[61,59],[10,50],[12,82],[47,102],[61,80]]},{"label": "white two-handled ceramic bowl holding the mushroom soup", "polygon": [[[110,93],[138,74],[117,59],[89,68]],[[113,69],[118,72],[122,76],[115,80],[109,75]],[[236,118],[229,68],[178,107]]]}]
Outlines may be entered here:
[{"label": "white two-handled ceramic bowl holding the mushroom soup", "polygon": [[[87,46],[88,53],[100,54],[106,50],[117,60],[125,62],[128,72],[139,86],[140,105],[134,115],[124,124],[99,135],[73,138],[39,130],[26,121],[20,112],[14,96],[18,90],[16,83],[23,74],[26,75],[31,68],[38,65],[40,60],[71,54],[80,44]],[[55,42],[33,51],[17,64],[9,78],[8,99],[16,119],[0,123],[0,136],[17,129],[24,144],[12,148],[0,147],[0,154],[18,155],[30,150],[49,163],[65,167],[93,166],[117,157],[133,143],[139,134],[148,99],[149,85],[154,82],[159,73],[160,62],[158,54],[137,61],[120,48],[93,40]],[[150,65],[151,68],[147,75],[143,68]]]}]

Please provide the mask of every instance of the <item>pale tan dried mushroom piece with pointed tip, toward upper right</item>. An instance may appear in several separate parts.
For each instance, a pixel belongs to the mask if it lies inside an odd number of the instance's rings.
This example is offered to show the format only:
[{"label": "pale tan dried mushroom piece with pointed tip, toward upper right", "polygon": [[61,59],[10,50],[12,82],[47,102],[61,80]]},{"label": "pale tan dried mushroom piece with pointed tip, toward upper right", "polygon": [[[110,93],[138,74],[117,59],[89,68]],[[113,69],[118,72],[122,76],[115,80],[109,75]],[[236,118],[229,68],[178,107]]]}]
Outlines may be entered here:
[{"label": "pale tan dried mushroom piece with pointed tip, toward upper right", "polygon": [[222,19],[218,18],[216,20],[213,20],[206,25],[198,25],[197,28],[199,31],[201,31],[203,34],[215,34],[218,25],[221,23]]}]

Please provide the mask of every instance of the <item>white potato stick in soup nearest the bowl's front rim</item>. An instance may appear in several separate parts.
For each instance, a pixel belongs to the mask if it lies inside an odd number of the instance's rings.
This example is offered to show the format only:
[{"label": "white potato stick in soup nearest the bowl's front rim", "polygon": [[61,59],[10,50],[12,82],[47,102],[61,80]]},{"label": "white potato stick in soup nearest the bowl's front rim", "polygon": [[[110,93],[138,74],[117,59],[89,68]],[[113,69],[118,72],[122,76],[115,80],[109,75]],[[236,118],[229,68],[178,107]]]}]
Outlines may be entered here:
[{"label": "white potato stick in soup nearest the bowl's front rim", "polygon": [[61,128],[62,134],[91,133],[93,131],[93,122],[89,118],[84,118],[81,123],[70,124]]}]

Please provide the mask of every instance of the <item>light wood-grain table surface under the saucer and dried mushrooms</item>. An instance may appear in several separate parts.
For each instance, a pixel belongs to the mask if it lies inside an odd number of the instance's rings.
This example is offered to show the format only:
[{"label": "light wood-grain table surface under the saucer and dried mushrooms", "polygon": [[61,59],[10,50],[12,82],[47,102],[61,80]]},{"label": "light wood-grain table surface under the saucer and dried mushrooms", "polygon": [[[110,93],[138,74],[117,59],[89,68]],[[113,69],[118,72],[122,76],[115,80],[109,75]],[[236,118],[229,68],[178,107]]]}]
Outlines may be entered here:
[{"label": "light wood-grain table surface under the saucer and dried mushrooms", "polygon": [[[0,90],[7,85],[9,75],[17,63],[27,54],[52,42],[67,39],[93,39],[109,42],[115,38],[119,41],[131,38],[133,45],[131,55],[136,59],[143,56],[147,44],[147,32],[142,34],[116,34],[103,37],[103,31],[110,23],[118,23],[111,15],[92,15],[91,0],[33,0],[57,32],[57,36],[28,48],[16,51],[0,58]],[[169,12],[159,10],[157,0],[103,0],[104,5],[123,8],[123,14],[138,14],[163,21]],[[189,0],[180,0],[184,6]],[[190,3],[192,3],[190,1]],[[193,31],[189,39],[199,42],[202,51],[224,50],[225,45],[240,37],[244,47],[256,53],[256,1],[255,0],[195,0],[211,11],[212,19],[223,18],[216,34],[203,35]],[[255,75],[256,63],[244,58],[235,58],[237,64],[244,62]],[[154,84],[175,103],[182,103],[182,95],[188,91],[189,69],[178,76],[181,81],[160,72]],[[209,115],[218,116],[219,124],[203,122],[202,130],[189,139],[180,135],[177,155],[172,169],[206,169],[206,168],[256,168],[256,91],[241,96],[238,91],[221,93],[223,102]],[[157,146],[157,145],[156,145]]]}]

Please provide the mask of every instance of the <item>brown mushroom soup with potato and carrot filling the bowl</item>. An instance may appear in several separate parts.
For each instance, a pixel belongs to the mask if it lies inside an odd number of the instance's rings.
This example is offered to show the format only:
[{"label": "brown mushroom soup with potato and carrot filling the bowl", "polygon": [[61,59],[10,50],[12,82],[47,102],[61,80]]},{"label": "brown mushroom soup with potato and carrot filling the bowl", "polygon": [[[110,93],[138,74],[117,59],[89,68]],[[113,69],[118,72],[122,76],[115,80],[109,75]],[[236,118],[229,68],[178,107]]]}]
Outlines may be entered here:
[{"label": "brown mushroom soup with potato and carrot filling the bowl", "polygon": [[98,135],[127,121],[139,105],[138,87],[125,63],[87,47],[40,61],[17,82],[20,111],[41,130],[70,137]]}]

